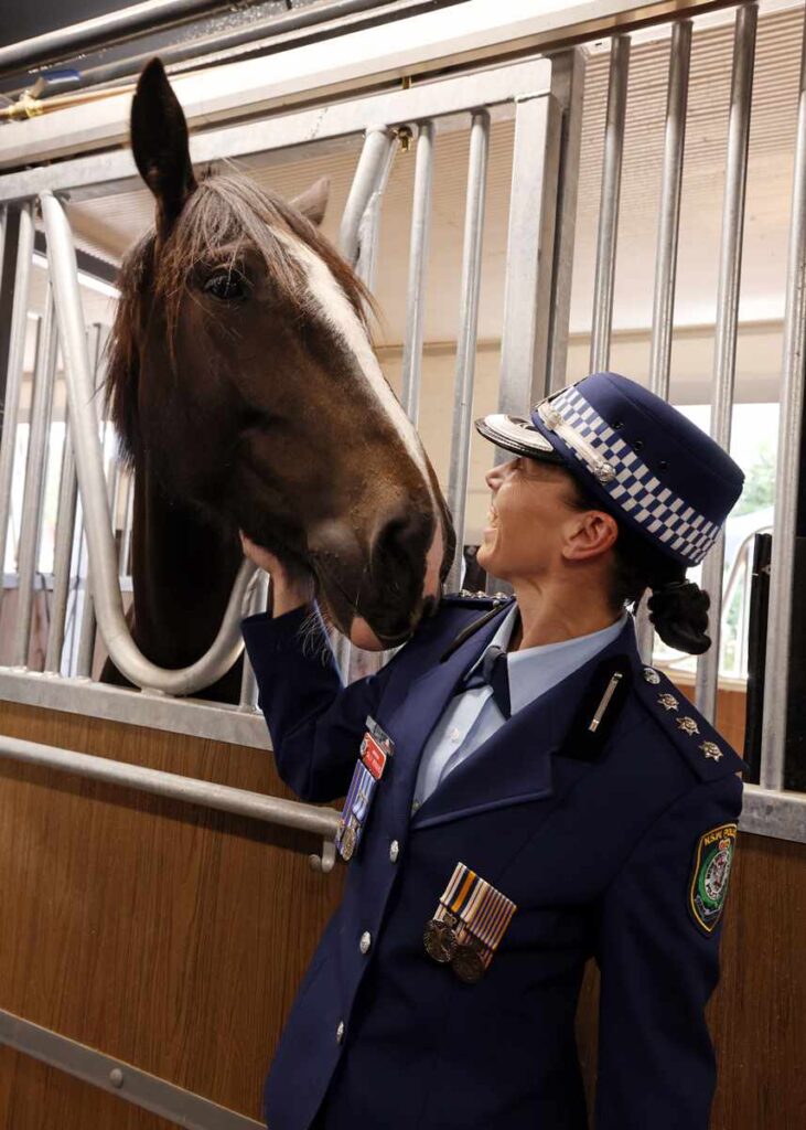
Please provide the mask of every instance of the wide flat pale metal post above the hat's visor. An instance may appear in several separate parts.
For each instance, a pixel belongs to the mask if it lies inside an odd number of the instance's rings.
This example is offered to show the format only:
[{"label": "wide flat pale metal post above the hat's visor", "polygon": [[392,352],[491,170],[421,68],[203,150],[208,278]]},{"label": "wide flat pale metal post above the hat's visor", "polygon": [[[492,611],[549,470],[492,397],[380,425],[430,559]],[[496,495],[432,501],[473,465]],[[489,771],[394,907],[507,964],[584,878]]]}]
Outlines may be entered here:
[{"label": "wide flat pale metal post above the hat's visor", "polygon": [[550,95],[518,102],[498,392],[498,410],[510,415],[528,412],[547,391],[561,125]]}]

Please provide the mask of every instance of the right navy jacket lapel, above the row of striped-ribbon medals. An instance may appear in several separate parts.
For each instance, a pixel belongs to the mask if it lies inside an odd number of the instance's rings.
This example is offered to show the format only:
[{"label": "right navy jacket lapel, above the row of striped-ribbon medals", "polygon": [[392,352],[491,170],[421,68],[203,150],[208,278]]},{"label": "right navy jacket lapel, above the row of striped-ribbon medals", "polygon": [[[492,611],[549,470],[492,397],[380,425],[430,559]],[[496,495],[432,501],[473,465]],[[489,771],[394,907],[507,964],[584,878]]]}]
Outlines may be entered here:
[{"label": "right navy jacket lapel, above the row of striped-ribbon medals", "polygon": [[[616,657],[623,657],[621,666],[627,672],[640,664],[632,617],[611,644],[518,711],[462,762],[412,817],[412,827],[429,827],[532,800],[559,799],[552,755],[561,750],[595,672],[603,664],[611,667]],[[562,760],[564,791],[588,766],[584,762],[567,765],[566,758]]]}]

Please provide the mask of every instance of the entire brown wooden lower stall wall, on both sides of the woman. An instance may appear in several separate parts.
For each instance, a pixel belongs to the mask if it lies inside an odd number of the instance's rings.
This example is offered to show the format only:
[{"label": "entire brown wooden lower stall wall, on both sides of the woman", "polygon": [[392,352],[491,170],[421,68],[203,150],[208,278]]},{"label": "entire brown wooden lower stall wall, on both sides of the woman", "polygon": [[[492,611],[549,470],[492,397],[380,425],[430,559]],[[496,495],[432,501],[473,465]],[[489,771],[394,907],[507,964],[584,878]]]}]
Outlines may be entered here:
[{"label": "entire brown wooden lower stall wall, on both sides of the woman", "polygon": [[[289,796],[260,750],[6,703],[0,731]],[[341,869],[309,869],[318,846],[0,759],[0,1008],[259,1119],[284,1016],[341,895]],[[709,1010],[711,1130],[806,1127],[804,937],[806,845],[741,835]],[[589,972],[579,1041],[590,1090],[595,1010]],[[169,1123],[0,1048],[0,1130],[54,1127]]]}]

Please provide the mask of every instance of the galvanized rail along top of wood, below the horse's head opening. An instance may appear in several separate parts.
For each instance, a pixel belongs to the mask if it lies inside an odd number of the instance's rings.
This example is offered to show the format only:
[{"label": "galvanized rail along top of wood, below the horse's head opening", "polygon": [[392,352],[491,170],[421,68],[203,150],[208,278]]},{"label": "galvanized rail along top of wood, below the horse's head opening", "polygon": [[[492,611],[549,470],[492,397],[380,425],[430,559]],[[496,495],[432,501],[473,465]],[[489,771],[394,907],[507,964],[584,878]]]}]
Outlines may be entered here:
[{"label": "galvanized rail along top of wood, below the horse's head opening", "polygon": [[210,738],[234,746],[271,749],[262,714],[243,713],[236,706],[213,705],[200,699],[133,694],[123,687],[90,684],[82,678],[0,668],[0,701]]}]

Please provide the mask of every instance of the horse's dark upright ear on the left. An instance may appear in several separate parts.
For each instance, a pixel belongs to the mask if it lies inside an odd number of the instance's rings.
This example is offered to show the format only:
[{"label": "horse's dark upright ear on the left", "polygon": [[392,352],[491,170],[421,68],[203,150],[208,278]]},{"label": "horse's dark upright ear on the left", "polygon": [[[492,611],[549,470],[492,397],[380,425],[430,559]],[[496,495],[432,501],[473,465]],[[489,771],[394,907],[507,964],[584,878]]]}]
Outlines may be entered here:
[{"label": "horse's dark upright ear on the left", "polygon": [[157,228],[166,236],[196,188],[187,145],[187,122],[159,59],[138,80],[132,101],[134,162],[157,198]]}]

